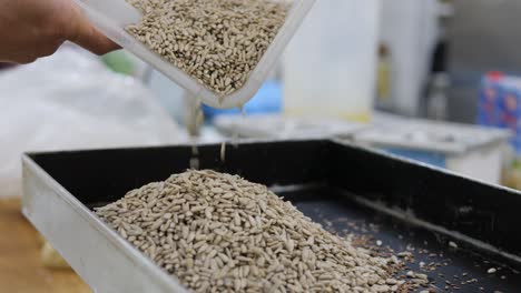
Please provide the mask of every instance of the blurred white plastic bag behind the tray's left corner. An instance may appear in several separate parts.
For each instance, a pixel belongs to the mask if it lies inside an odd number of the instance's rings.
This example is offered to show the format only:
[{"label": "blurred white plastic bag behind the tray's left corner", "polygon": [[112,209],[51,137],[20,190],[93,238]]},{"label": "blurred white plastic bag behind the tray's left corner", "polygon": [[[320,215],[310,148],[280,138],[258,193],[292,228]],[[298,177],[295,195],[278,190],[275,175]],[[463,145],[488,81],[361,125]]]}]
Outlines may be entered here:
[{"label": "blurred white plastic bag behind the tray's left corner", "polygon": [[141,83],[76,48],[0,72],[0,198],[21,195],[24,151],[159,145],[180,137]]}]

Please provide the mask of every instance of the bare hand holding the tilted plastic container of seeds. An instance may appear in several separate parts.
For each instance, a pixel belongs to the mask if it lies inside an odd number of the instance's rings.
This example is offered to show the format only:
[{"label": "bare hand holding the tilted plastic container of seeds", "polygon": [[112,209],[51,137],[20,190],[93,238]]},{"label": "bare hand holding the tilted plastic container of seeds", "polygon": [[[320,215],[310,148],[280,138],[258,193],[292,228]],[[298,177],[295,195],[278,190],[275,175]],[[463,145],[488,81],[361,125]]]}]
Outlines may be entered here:
[{"label": "bare hand holding the tilted plastic container of seeds", "polygon": [[97,54],[118,48],[71,0],[0,0],[0,61],[30,63],[67,40]]}]

